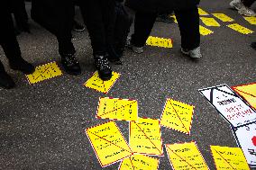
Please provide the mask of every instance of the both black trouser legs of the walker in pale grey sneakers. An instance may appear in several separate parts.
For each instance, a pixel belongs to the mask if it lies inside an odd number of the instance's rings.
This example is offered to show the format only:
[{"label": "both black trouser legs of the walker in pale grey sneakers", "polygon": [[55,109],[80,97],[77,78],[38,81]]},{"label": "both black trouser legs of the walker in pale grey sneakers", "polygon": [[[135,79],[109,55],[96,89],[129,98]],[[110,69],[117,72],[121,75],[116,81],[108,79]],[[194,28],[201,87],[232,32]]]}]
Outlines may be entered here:
[{"label": "both black trouser legs of the walker in pale grey sneakers", "polygon": [[[174,11],[181,36],[181,47],[184,49],[195,49],[200,45],[199,33],[199,14],[197,7],[187,10]],[[134,33],[132,35],[132,43],[136,47],[145,45],[146,40],[151,34],[154,22],[158,13],[142,13],[135,14]]]}]

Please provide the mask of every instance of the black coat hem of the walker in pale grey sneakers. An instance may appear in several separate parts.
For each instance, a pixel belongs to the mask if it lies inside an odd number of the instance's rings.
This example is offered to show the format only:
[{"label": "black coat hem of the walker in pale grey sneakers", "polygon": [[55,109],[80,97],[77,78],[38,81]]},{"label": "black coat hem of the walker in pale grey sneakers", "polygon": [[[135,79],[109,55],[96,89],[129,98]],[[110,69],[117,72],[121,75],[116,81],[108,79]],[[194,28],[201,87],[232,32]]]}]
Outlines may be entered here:
[{"label": "black coat hem of the walker in pale grey sneakers", "polygon": [[125,5],[135,11],[166,13],[197,6],[200,0],[126,0]]}]

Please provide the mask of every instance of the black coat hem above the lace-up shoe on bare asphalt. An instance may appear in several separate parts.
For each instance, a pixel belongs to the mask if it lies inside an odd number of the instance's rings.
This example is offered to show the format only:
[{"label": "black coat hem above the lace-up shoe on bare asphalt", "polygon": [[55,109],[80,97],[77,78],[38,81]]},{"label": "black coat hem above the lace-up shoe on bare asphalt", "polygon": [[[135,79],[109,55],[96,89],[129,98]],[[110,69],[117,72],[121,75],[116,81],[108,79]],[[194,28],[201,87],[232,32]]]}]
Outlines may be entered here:
[{"label": "black coat hem above the lace-up shoe on bare asphalt", "polygon": [[71,31],[74,11],[73,0],[32,0],[32,19],[55,35]]}]

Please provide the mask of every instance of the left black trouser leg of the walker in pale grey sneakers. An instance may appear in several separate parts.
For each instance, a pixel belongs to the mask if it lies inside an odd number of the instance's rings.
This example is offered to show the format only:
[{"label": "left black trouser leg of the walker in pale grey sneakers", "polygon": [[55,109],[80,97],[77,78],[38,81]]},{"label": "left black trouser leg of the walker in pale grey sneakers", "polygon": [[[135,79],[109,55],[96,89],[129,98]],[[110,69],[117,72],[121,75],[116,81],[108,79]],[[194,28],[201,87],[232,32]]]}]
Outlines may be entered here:
[{"label": "left black trouser leg of the walker in pale grey sneakers", "polygon": [[151,34],[157,13],[135,13],[134,33],[132,35],[132,43],[136,47],[145,45],[146,40]]}]

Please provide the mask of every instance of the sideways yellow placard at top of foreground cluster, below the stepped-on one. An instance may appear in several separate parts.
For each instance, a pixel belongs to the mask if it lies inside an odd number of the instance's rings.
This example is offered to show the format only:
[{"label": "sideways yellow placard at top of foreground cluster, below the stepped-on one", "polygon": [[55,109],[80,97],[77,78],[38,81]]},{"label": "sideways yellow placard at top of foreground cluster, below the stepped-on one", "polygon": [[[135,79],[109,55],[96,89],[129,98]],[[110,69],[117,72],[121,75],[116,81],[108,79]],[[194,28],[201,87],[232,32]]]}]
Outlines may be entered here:
[{"label": "sideways yellow placard at top of foreground cluster, below the stepped-on one", "polygon": [[138,121],[138,102],[129,99],[100,98],[96,117],[119,121]]}]

